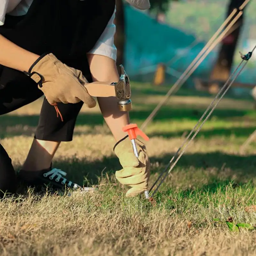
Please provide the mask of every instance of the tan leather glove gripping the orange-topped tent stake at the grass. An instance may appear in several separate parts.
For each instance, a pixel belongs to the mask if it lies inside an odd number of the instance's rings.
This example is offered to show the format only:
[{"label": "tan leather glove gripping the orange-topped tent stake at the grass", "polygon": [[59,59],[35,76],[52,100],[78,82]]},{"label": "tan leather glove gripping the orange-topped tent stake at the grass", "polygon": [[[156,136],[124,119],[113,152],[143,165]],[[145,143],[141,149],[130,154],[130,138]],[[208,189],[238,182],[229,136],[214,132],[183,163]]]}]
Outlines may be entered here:
[{"label": "tan leather glove gripping the orange-topped tent stake at the grass", "polygon": [[135,141],[139,158],[134,155],[128,136],[114,146],[114,152],[123,166],[122,170],[116,171],[116,179],[132,187],[126,192],[126,197],[136,196],[148,189],[150,161],[145,145],[138,139]]}]

